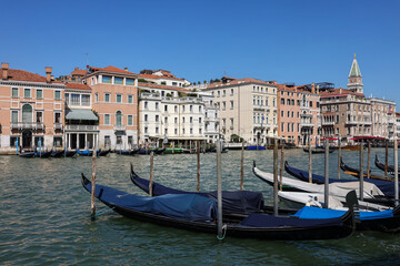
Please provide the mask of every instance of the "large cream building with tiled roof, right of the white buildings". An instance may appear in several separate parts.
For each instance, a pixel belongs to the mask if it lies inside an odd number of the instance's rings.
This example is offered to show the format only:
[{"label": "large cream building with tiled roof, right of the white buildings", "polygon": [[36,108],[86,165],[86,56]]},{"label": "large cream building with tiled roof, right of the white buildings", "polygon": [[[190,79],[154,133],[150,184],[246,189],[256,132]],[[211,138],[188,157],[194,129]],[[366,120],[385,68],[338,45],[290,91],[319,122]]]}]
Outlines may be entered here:
[{"label": "large cream building with tiled roof, right of the white buildings", "polygon": [[203,91],[214,96],[220,135],[227,142],[236,134],[261,145],[278,136],[277,82],[223,76]]}]

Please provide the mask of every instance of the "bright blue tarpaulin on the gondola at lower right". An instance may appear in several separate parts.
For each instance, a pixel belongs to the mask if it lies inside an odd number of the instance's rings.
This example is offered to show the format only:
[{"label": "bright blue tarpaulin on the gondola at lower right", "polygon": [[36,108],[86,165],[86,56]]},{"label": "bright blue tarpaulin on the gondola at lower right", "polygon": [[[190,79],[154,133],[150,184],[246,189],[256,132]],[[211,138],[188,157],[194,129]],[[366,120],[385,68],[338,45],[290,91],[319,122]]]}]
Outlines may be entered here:
[{"label": "bright blue tarpaulin on the gondola at lower right", "polygon": [[[297,212],[293,217],[299,218],[334,218],[340,217],[346,213],[346,211],[337,211],[337,209],[329,209],[329,208],[319,208],[319,207],[309,207],[304,206],[299,212]],[[380,219],[380,218],[390,218],[393,217],[393,211],[382,211],[382,212],[360,212],[360,219]]]}]

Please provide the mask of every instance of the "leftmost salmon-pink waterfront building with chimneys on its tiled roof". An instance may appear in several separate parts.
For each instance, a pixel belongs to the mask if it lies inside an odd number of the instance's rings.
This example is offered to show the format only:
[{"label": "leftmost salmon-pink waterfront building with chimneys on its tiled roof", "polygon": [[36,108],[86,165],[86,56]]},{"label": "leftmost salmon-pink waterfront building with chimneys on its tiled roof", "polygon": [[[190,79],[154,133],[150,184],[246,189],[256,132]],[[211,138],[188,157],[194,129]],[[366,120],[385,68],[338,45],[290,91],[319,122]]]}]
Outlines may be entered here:
[{"label": "leftmost salmon-pink waterfront building with chimneys on its tiled roof", "polygon": [[62,147],[66,85],[52,79],[52,68],[44,70],[42,76],[1,63],[1,150]]}]

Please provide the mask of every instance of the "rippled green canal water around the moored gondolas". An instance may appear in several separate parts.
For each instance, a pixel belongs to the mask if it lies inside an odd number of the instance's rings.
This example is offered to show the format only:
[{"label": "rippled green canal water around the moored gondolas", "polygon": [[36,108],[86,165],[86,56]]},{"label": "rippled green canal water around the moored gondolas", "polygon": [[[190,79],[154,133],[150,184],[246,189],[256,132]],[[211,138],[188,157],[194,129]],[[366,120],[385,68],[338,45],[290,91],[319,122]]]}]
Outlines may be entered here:
[{"label": "rippled green canal water around the moored gondolas", "polygon": [[[384,150],[373,149],[384,161]],[[343,151],[357,166],[358,152]],[[338,154],[330,156],[337,176]],[[307,170],[308,154],[284,156]],[[367,157],[367,154],[366,154]],[[390,158],[392,152],[390,153]],[[252,161],[272,171],[272,151],[247,151],[244,188],[271,202],[272,188],[251,172]],[[392,161],[390,160],[392,163]],[[149,177],[149,156],[109,154],[97,160],[97,183],[144,195],[129,180],[129,164]],[[364,165],[367,165],[364,163]],[[313,155],[313,172],[323,174],[323,154]],[[201,234],[128,219],[113,212],[90,221],[90,194],[80,174],[91,174],[91,157],[20,158],[0,156],[0,265],[393,265],[400,263],[400,234],[357,232],[337,241],[272,242]],[[284,174],[288,176],[288,174]],[[240,151],[222,154],[223,190],[240,186]],[[351,178],[342,173],[342,178]],[[196,191],[196,154],[154,157],[154,181]],[[201,154],[201,191],[217,190],[216,154]],[[104,206],[97,203],[98,211]]]}]

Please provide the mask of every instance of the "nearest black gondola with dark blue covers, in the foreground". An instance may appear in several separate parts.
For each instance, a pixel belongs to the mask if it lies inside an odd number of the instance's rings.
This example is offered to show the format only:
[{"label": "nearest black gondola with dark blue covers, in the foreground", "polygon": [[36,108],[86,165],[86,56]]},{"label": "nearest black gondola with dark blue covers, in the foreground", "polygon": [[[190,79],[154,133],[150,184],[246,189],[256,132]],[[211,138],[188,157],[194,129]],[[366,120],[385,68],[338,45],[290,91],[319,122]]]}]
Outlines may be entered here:
[{"label": "nearest black gondola with dark blue covers, in the foreground", "polygon": [[[81,182],[91,193],[91,182],[83,174]],[[216,202],[197,194],[141,197],[103,185],[96,185],[94,194],[103,204],[129,218],[180,229],[211,234],[218,232]],[[224,224],[224,233],[226,236],[276,241],[333,239],[351,235],[354,227],[351,206],[341,217],[328,219],[252,213],[238,218],[236,223]]]}]

